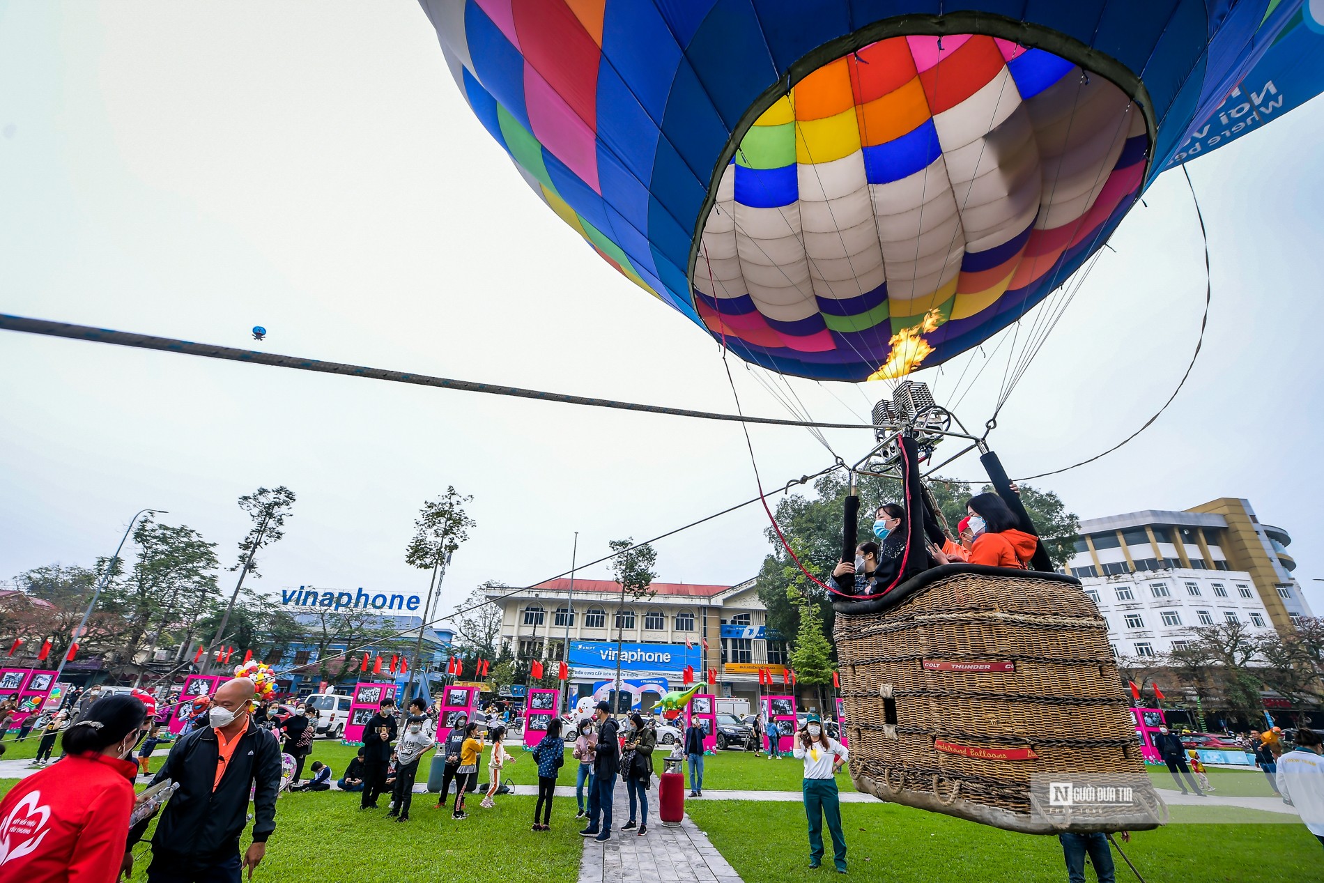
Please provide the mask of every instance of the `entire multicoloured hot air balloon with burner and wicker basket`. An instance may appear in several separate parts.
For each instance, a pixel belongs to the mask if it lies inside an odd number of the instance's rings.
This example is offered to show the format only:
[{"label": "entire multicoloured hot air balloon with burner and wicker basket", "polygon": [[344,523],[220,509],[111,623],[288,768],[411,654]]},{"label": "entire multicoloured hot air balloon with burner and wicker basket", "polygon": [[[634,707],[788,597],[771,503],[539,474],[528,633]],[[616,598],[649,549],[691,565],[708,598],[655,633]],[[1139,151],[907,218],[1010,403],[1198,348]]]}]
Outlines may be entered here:
[{"label": "entire multicoloured hot air balloon with burner and wicker basket", "polygon": [[[548,208],[730,352],[816,380],[895,381],[978,346],[1164,169],[1324,90],[1301,0],[421,3]],[[857,789],[1026,833],[1162,823],[1079,581],[1042,547],[1025,571],[925,563],[919,463],[941,437],[980,447],[1034,527],[982,437],[923,384],[894,392],[851,473],[903,481],[902,576],[834,602]],[[1063,778],[1125,802],[1072,805]]]}]

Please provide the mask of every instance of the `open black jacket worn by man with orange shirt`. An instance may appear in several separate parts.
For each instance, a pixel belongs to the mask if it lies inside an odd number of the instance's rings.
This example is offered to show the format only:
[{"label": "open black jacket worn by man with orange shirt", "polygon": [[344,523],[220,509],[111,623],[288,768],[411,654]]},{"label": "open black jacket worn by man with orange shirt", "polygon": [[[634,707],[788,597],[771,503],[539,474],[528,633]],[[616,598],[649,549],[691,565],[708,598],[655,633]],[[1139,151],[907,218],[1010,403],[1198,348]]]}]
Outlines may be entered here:
[{"label": "open black jacket worn by man with orange shirt", "polygon": [[[281,785],[281,745],[252,719],[230,755],[216,790],[216,765],[221,760],[216,731],[211,727],[181,736],[152,784],[169,778],[179,790],[166,804],[152,854],[169,855],[180,867],[197,868],[238,854],[240,834],[248,821],[249,792],[253,798],[253,839],[265,843],[275,830],[275,793]],[[130,833],[130,845],[142,839],[147,822]]]}]

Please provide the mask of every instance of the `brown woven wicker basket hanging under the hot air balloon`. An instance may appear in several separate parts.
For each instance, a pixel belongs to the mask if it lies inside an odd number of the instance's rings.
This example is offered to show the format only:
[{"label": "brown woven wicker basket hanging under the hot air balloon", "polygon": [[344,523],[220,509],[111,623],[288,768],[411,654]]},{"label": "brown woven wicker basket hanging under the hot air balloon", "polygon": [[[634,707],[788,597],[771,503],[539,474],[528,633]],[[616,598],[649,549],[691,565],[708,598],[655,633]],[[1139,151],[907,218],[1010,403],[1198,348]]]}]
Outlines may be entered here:
[{"label": "brown woven wicker basket hanging under the hot air balloon", "polygon": [[[953,564],[834,606],[857,789],[1029,834],[1166,821],[1107,624],[1079,581]],[[1051,801],[1050,781],[1132,800]]]}]

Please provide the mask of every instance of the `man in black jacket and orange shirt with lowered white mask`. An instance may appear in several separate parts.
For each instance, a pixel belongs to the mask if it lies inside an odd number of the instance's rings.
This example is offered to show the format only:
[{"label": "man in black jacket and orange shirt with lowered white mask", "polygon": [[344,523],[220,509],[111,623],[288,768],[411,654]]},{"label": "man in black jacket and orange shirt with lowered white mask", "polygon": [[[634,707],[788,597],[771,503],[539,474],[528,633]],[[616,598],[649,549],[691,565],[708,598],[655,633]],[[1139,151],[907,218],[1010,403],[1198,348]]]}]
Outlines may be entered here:
[{"label": "man in black jacket and orange shirt with lowered white mask", "polygon": [[[180,737],[152,780],[156,785],[169,778],[179,790],[160,813],[147,883],[240,883],[244,868],[252,874],[266,855],[275,830],[281,744],[252,719],[254,694],[248,678],[221,684],[212,695],[211,727]],[[250,792],[253,843],[241,860]],[[134,826],[130,847],[148,821]]]}]

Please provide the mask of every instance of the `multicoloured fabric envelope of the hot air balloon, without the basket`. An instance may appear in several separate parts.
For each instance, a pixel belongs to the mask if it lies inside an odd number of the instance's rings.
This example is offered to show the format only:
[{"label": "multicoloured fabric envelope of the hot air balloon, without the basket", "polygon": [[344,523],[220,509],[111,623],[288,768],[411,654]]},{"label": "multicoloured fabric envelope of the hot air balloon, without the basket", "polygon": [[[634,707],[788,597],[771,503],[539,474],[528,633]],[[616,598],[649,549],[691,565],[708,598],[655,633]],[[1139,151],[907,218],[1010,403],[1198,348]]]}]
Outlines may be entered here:
[{"label": "multicoloured fabric envelope of the hot air balloon, without the basket", "polygon": [[[553,212],[736,355],[814,379],[977,346],[1160,171],[1324,86],[1300,0],[422,5]],[[1284,107],[1259,74],[1307,32]]]}]

